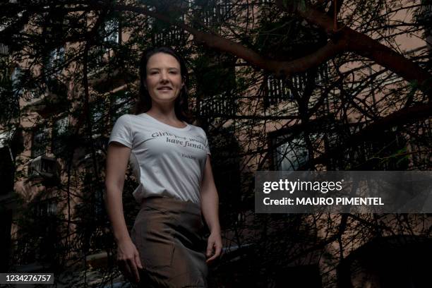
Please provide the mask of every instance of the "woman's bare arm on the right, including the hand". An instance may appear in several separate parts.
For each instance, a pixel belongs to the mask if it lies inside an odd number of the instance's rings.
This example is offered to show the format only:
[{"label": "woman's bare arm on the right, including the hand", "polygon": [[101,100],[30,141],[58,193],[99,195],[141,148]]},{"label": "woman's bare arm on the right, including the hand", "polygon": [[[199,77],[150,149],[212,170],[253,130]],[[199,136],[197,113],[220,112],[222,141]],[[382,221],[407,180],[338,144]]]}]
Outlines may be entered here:
[{"label": "woman's bare arm on the right, including the hand", "polygon": [[207,156],[205,162],[203,183],[201,184],[201,210],[205,222],[210,229],[210,236],[207,243],[207,263],[212,262],[220,256],[222,252],[222,239],[220,237],[219,223],[219,196],[215,181],[213,180],[212,166],[210,164],[210,156]]}]

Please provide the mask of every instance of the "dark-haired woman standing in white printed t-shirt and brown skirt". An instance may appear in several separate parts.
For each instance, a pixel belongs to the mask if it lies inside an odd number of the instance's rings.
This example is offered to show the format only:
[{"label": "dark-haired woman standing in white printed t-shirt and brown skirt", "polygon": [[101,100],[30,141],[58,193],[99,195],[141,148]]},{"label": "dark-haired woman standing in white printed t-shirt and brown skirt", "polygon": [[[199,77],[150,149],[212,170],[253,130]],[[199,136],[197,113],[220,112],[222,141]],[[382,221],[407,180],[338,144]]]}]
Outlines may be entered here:
[{"label": "dark-haired woman standing in white printed t-shirt and brown skirt", "polygon": [[[207,263],[222,251],[207,138],[186,123],[187,75],[172,49],[143,54],[139,114],[120,116],[109,138],[105,202],[117,260],[143,287],[207,287]],[[131,236],[121,198],[128,161],[141,205]],[[201,212],[210,229],[206,242]]]}]

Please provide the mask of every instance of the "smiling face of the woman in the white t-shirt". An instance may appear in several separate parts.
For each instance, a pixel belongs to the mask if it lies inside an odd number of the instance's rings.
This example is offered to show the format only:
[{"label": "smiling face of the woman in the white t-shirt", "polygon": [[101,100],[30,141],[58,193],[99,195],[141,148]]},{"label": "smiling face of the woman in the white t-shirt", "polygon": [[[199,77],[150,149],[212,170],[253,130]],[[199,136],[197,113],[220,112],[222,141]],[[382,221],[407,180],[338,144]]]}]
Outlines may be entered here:
[{"label": "smiling face of the woman in the white t-shirt", "polygon": [[152,102],[160,104],[174,102],[183,85],[180,64],[174,56],[162,52],[150,56],[147,62],[145,86]]}]

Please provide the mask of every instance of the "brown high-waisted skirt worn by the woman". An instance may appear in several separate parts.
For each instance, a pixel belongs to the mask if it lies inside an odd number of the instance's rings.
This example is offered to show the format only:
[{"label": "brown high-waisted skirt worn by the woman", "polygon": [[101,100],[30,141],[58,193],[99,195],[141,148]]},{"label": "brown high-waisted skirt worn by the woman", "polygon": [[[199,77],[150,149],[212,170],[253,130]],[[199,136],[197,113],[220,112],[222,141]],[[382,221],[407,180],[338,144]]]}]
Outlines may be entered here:
[{"label": "brown high-waisted skirt worn by the woman", "polygon": [[145,198],[131,231],[144,268],[139,287],[207,287],[203,228],[199,205]]}]

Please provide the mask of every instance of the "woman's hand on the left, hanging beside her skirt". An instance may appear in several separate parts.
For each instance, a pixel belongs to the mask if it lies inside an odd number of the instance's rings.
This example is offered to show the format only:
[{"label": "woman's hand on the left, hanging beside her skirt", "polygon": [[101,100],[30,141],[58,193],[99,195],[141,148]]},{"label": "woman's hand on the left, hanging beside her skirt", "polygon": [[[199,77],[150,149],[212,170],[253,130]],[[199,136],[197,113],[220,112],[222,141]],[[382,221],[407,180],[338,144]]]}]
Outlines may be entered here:
[{"label": "woman's hand on the left, hanging beside her skirt", "polygon": [[140,253],[131,239],[118,242],[117,263],[128,279],[140,282],[138,268],[143,269],[143,265],[141,265]]}]

